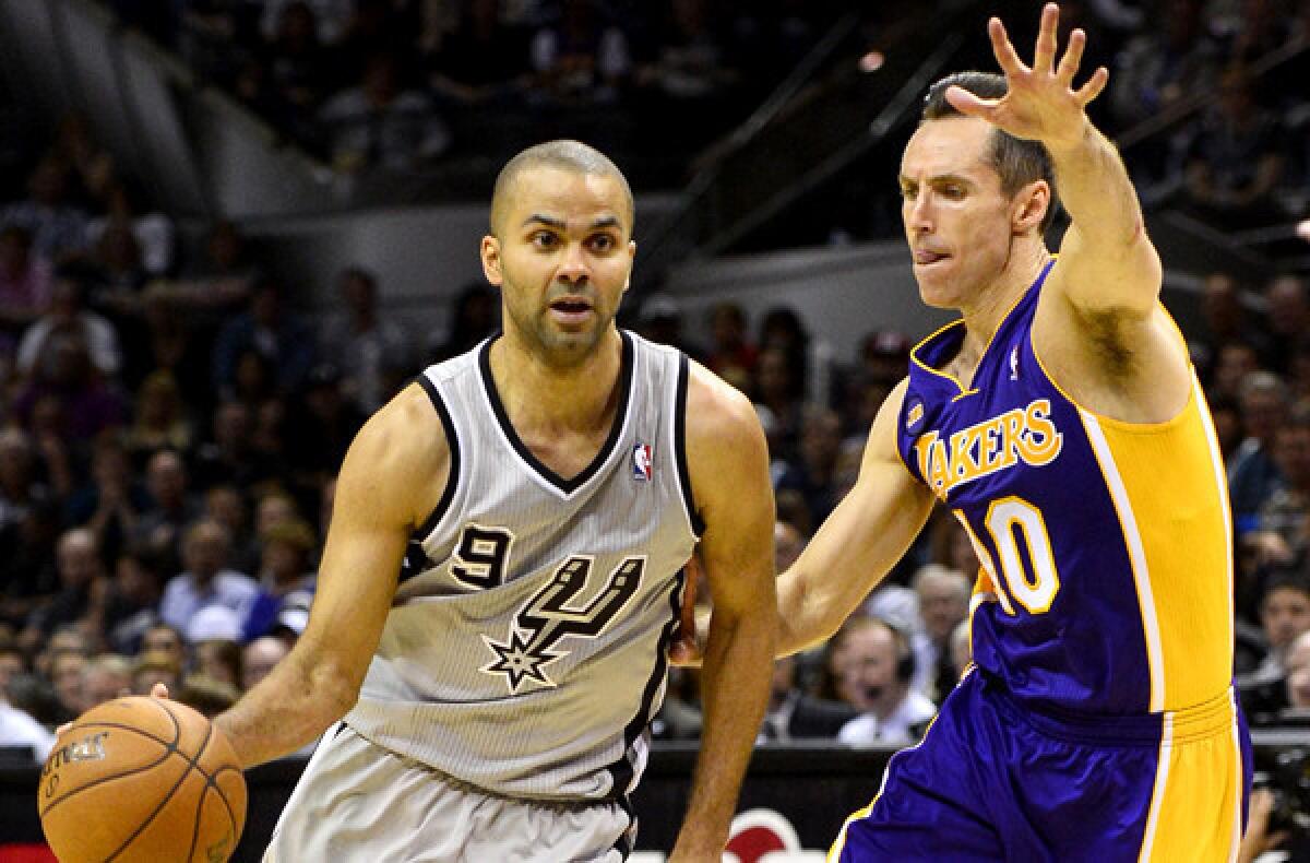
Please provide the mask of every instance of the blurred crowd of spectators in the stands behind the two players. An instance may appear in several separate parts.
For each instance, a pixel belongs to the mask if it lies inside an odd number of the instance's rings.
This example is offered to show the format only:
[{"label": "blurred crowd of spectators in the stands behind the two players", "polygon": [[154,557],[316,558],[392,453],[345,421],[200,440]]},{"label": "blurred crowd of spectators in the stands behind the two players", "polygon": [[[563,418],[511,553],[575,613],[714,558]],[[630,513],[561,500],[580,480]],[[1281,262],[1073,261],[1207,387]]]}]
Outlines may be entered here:
[{"label": "blurred crowd of spectators in the stands behind the two players", "polygon": [[[160,4],[147,0],[115,5],[305,130],[348,118],[379,81],[414,94],[413,115],[397,110],[423,119],[406,119],[394,140],[431,151],[406,160],[451,146],[438,108],[449,100],[758,90],[831,12],[786,0],[760,4],[778,16],[768,21],[753,5],[707,14],[697,0],[170,0],[162,5],[177,14],[156,17],[143,10]],[[1116,89],[1104,110],[1120,127],[1214,94],[1193,122],[1158,138],[1159,152],[1133,151],[1144,194],[1234,226],[1258,224],[1269,207],[1303,209],[1307,94],[1272,87],[1258,68],[1305,45],[1310,3],[1069,7],[1115,31],[1106,60]],[[413,51],[379,54],[397,28]],[[747,35],[755,41],[732,42]],[[217,50],[229,38],[236,50]],[[584,50],[591,59],[575,56]],[[1294,80],[1310,80],[1303,52],[1289,56],[1302,70]],[[757,77],[752,62],[773,77]],[[363,138],[307,134],[331,140],[342,164],[384,164],[384,127]],[[307,619],[333,477],[352,435],[426,363],[494,332],[499,300],[469,286],[447,331],[424,340],[380,308],[375,274],[346,268],[331,286],[296,286],[335,292],[331,313],[307,313],[237,226],[215,222],[203,241],[182,243],[76,115],[24,182],[0,191],[0,746],[42,757],[52,728],[118,692],[162,679],[212,713],[284,656]],[[1252,721],[1298,723],[1310,717],[1310,289],[1294,271],[1263,283],[1216,271],[1201,290],[1186,336],[1227,459],[1234,672]],[[692,321],[667,295],[645,298],[629,323],[756,404],[786,567],[854,481],[909,341],[870,320],[857,355],[838,357],[795,308],[724,302]],[[976,571],[967,535],[935,514],[828,644],[778,662],[761,740],[913,741],[968,661]],[[694,737],[698,716],[694,673],[676,670],[655,733]]]}]

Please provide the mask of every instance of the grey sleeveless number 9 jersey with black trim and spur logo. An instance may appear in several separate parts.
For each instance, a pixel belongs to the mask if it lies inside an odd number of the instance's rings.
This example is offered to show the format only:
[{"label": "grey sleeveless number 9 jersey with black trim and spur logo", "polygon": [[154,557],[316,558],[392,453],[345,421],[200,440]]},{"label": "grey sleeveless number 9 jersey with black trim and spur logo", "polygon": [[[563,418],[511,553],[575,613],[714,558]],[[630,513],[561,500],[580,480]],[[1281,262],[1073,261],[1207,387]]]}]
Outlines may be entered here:
[{"label": "grey sleeveless number 9 jersey with black trim and spur logo", "polygon": [[624,332],[609,438],[563,479],[515,434],[489,351],[419,378],[451,480],[346,723],[493,793],[620,797],[646,765],[697,538],[686,359]]}]

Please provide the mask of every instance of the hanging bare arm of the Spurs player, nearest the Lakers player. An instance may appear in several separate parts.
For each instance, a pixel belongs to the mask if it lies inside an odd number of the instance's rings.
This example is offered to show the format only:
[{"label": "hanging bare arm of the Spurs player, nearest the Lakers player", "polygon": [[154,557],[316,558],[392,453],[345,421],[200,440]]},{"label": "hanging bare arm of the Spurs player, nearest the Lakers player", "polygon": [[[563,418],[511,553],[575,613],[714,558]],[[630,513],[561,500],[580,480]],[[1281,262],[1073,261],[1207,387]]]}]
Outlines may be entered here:
[{"label": "hanging bare arm of the Spurs player, nearest the Lakers player", "polygon": [[774,639],[773,489],[755,408],[693,365],[686,458],[714,599],[705,647],[705,727],[671,860],[718,860],[769,698]]}]

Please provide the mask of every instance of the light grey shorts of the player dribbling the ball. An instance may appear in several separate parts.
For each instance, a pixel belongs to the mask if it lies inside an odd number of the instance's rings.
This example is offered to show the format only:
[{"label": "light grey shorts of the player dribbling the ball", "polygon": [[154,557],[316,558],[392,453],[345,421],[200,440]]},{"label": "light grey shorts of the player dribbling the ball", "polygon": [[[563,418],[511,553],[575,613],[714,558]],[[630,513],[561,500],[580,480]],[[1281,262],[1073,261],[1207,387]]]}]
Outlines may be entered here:
[{"label": "light grey shorts of the player dribbling the ball", "polygon": [[263,860],[618,863],[634,833],[618,803],[493,796],[338,724],[305,765]]}]

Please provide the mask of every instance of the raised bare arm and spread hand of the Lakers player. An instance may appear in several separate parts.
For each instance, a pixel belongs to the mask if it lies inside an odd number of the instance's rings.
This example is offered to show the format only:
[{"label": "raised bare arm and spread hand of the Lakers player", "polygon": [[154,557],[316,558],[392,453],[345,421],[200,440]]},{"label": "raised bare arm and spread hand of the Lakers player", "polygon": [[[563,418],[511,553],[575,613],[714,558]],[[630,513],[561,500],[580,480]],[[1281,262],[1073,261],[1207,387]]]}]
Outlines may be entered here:
[{"label": "raised bare arm and spread hand of the Lakers player", "polygon": [[1039,140],[1051,153],[1072,222],[1034,323],[1043,362],[1086,407],[1121,420],[1166,420],[1191,390],[1186,349],[1159,308],[1162,269],[1137,191],[1115,146],[1086,114],[1108,72],[1100,67],[1074,87],[1086,35],[1074,30],[1057,60],[1058,17],[1056,4],[1043,8],[1031,67],[992,18],[988,33],[1007,93],[986,100],[951,88],[946,96],[962,113]]}]

